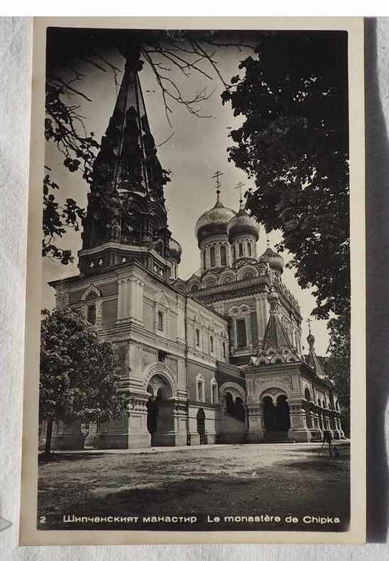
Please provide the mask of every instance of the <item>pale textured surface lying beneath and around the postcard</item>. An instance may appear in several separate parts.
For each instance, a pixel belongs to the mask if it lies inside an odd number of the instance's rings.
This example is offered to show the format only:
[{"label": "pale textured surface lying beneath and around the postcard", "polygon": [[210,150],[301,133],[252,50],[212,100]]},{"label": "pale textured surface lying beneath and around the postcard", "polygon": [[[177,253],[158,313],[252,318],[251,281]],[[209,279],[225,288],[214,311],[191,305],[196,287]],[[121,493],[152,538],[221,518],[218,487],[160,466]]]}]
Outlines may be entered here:
[{"label": "pale textured surface lying beneath and around the postcard", "polygon": [[[368,536],[365,546],[18,547],[31,18],[0,18],[1,560],[380,560],[388,557],[389,18],[366,22],[368,155]],[[28,399],[28,396],[26,396]],[[386,431],[385,431],[386,428]]]}]

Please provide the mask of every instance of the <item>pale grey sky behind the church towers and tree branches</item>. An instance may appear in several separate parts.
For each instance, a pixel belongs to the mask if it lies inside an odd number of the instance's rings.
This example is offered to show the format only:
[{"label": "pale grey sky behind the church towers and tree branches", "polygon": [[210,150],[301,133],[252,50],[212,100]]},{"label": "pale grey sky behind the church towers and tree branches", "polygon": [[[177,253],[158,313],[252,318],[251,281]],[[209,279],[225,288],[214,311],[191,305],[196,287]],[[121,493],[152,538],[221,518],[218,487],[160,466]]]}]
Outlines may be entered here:
[{"label": "pale grey sky behind the church towers and tree branches", "polygon": [[[233,75],[239,73],[239,62],[247,55],[248,50],[238,50],[237,48],[220,48],[215,53],[214,58],[218,61],[219,72],[227,82]],[[119,53],[109,53],[106,57],[123,70],[124,59]],[[92,101],[88,102],[78,96],[77,99],[72,97],[71,102],[77,102],[77,105],[80,105],[79,113],[84,117],[87,131],[94,132],[97,141],[100,141],[114,110],[119,86],[116,85],[114,73],[111,70],[103,72],[88,63],[77,64],[77,70],[81,70],[84,75],[84,78],[77,82],[77,88]],[[211,73],[210,68],[207,70]],[[119,81],[121,76],[122,74],[119,76]],[[168,223],[172,237],[175,237],[182,246],[179,275],[182,279],[187,279],[200,265],[195,223],[199,215],[212,208],[216,202],[215,183],[212,179],[214,172],[219,170],[223,173],[221,176],[221,201],[225,206],[234,210],[239,208],[239,190],[235,188],[239,181],[246,183],[246,188],[255,186],[252,180],[248,180],[246,173],[228,161],[227,148],[233,144],[229,138],[229,131],[231,128],[239,127],[241,118],[234,117],[230,105],[221,104],[220,95],[224,90],[221,80],[215,73],[212,75],[212,80],[207,80],[204,75],[195,71],[192,71],[190,77],[187,78],[177,69],[172,69],[169,77],[180,85],[182,92],[188,97],[204,87],[207,87],[209,93],[213,91],[212,96],[200,104],[202,106],[200,114],[204,116],[202,118],[193,116],[185,107],[172,102],[170,125],[165,115],[160,90],[158,90],[150,67],[145,65],[140,73],[143,97],[155,144],[157,146],[162,144],[174,132],[171,139],[158,148],[158,158],[163,168],[169,169],[171,172],[171,181],[165,187]],[[63,160],[64,156],[58,151],[55,144],[46,142],[45,165],[51,170],[51,178],[60,185],[58,198],[65,200],[65,198],[72,197],[81,206],[86,207],[88,186],[80,173],[70,173],[65,169]],[[281,235],[279,232],[272,232],[269,238],[270,245],[274,246],[280,241]],[[42,307],[48,309],[52,309],[55,305],[54,291],[48,286],[48,281],[78,274],[77,251],[81,248],[80,232],[70,231],[64,235],[60,246],[74,251],[75,262],[64,266],[56,260],[43,258]],[[261,255],[265,249],[266,235],[261,226],[257,247],[258,255]],[[283,258],[287,262],[291,256],[284,252]],[[307,351],[307,319],[316,306],[312,291],[300,288],[294,269],[285,268],[283,282],[300,303],[303,316],[302,346]],[[311,328],[316,338],[317,353],[325,356],[329,343],[327,321],[312,319]]]}]

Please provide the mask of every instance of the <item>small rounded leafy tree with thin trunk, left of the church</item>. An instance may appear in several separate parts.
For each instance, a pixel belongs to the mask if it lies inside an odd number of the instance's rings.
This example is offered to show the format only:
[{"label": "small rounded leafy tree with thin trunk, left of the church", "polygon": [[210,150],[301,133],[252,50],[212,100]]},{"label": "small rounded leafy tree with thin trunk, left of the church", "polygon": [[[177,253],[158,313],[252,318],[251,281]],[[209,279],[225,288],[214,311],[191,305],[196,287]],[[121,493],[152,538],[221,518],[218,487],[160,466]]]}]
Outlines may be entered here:
[{"label": "small rounded leafy tree with thin trunk, left of the church", "polygon": [[47,422],[50,454],[53,422],[106,421],[121,415],[119,366],[111,343],[70,309],[43,311],[39,417]]}]

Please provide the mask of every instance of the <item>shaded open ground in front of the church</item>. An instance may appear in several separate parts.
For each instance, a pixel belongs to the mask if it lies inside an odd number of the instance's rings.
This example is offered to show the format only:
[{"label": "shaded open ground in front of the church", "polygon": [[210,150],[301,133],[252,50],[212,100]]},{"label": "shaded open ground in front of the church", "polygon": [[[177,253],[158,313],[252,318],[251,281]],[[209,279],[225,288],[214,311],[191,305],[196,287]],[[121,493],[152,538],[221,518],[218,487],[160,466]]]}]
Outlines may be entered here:
[{"label": "shaded open ground in front of the church", "polygon": [[[58,453],[54,461],[41,457],[38,529],[345,530],[349,445],[339,445],[339,458],[318,452],[317,444],[240,444],[90,450]],[[139,518],[136,523],[65,523],[64,515]],[[181,515],[197,521],[143,521],[148,516]],[[224,520],[261,515],[280,516],[280,522]],[[291,515],[298,522],[285,520]],[[217,516],[219,523],[209,521]],[[304,523],[304,516],[330,520]]]}]

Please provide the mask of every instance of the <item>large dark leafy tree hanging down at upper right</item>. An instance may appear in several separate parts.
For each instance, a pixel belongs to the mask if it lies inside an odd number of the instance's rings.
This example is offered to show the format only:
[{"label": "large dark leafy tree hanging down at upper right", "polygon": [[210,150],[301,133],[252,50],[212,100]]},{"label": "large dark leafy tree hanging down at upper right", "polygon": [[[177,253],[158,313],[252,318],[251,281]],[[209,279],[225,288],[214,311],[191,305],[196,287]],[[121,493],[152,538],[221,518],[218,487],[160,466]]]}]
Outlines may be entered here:
[{"label": "large dark leafy tree hanging down at upper right", "polygon": [[314,316],[349,310],[349,134],[346,32],[266,32],[222,95],[236,116],[229,159],[253,177],[247,206],[279,229]]}]

